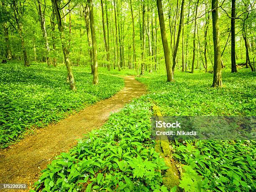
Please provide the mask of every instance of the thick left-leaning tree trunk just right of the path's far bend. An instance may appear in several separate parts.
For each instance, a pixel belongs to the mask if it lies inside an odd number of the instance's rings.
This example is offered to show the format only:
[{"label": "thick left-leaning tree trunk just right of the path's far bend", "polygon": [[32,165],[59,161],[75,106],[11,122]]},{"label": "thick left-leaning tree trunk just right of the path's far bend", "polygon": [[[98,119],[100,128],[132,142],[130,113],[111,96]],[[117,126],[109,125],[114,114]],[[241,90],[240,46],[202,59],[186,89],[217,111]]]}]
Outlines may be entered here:
[{"label": "thick left-leaning tree trunk just right of the path's far bend", "polygon": [[170,51],[168,46],[168,41],[166,37],[165,31],[165,23],[164,23],[164,13],[162,8],[162,0],[156,0],[157,3],[157,10],[158,10],[158,17],[160,23],[160,30],[161,30],[161,39],[164,49],[164,59],[165,59],[165,66],[166,66],[166,73],[167,73],[167,82],[174,81],[172,67],[170,64]]}]

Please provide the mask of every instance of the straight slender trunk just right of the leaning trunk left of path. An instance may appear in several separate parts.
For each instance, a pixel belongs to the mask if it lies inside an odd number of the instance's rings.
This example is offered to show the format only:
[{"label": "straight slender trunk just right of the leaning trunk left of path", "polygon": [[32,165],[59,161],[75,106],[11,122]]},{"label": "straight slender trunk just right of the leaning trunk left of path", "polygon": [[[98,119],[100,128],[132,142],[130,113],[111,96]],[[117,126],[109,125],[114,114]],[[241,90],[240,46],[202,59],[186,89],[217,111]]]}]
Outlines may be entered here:
[{"label": "straight slender trunk just right of the leaning trunk left of path", "polygon": [[94,16],[93,16],[93,5],[92,0],[87,0],[90,9],[90,27],[91,27],[91,34],[92,34],[92,53],[93,53],[93,84],[99,83],[99,74],[98,74],[98,60],[97,60],[97,43],[96,43],[96,36],[95,36],[95,26],[94,26]]}]

